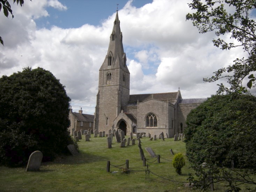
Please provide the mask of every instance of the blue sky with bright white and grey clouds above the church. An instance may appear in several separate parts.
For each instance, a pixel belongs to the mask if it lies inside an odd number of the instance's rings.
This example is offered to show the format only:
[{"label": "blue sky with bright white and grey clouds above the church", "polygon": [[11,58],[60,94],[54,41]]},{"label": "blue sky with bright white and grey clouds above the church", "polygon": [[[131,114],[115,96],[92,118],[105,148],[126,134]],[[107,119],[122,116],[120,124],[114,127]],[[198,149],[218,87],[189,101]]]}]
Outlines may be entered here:
[{"label": "blue sky with bright white and grey clouds above the church", "polygon": [[[25,0],[0,12],[0,76],[24,67],[49,70],[65,86],[73,112],[94,114],[98,73],[107,54],[117,3],[130,94],[167,93],[182,98],[215,94],[204,83],[219,68],[244,56],[241,49],[215,47],[213,32],[199,34],[185,16],[190,0]],[[230,40],[228,36],[224,39]]]}]

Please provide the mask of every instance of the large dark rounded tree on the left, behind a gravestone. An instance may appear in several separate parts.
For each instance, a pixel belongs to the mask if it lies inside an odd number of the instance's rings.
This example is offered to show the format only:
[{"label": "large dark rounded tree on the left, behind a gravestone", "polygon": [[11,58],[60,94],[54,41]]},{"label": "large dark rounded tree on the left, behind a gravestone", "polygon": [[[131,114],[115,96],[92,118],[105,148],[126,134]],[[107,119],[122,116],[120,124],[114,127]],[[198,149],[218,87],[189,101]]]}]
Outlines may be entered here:
[{"label": "large dark rounded tree on the left, behind a gravestone", "polygon": [[0,79],[0,164],[23,165],[40,150],[44,161],[67,152],[70,98],[43,68],[24,68]]}]

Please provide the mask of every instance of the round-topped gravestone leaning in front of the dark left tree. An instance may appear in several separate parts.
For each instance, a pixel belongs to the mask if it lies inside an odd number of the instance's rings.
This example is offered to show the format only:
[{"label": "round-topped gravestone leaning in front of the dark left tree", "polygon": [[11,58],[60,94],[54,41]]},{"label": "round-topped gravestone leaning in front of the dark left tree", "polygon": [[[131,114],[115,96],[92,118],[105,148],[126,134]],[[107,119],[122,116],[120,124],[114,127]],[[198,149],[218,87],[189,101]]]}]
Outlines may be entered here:
[{"label": "round-topped gravestone leaning in front of the dark left tree", "polygon": [[28,159],[26,171],[39,171],[42,163],[43,153],[41,151],[34,151]]}]

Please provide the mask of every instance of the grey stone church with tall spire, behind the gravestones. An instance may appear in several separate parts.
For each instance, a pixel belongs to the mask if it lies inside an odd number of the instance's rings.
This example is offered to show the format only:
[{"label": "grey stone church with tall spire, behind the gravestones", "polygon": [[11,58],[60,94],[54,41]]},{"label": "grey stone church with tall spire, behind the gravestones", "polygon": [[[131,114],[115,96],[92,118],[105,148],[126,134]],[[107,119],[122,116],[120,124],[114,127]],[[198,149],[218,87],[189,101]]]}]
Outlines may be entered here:
[{"label": "grey stone church with tall spire, behind the gravestones", "polygon": [[94,130],[120,128],[130,132],[145,132],[169,137],[182,133],[186,116],[205,98],[182,99],[178,90],[173,93],[130,95],[130,72],[122,43],[118,12],[110,35],[107,55],[99,70]]}]

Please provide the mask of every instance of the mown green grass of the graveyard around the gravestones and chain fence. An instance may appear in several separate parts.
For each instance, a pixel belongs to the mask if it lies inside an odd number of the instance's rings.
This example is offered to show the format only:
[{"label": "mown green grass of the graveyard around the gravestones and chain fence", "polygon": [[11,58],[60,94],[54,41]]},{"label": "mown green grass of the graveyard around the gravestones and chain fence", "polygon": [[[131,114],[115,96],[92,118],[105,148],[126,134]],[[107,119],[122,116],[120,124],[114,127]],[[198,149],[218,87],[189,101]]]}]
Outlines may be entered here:
[{"label": "mown green grass of the graveyard around the gravestones and chain fence", "polygon": [[[126,135],[125,138],[128,138]],[[190,164],[185,158],[185,166],[182,174],[178,175],[172,162],[174,153],[181,152],[185,156],[185,143],[173,141],[173,138],[165,138],[165,141],[157,139],[149,141],[149,138],[141,139],[141,146],[148,161],[154,161],[146,152],[146,147],[151,147],[156,155],[160,155],[161,163],[148,163],[149,170],[163,178],[174,180],[171,182],[152,173],[149,179],[145,179],[145,168],[139,155],[138,141],[136,145],[120,148],[120,143],[116,143],[113,138],[112,148],[107,148],[107,138],[90,138],[90,141],[83,139],[78,142],[80,154],[76,156],[61,156],[53,162],[42,163],[39,172],[25,172],[22,168],[0,167],[0,191],[191,191],[184,187],[188,183],[188,173],[194,173],[189,167]],[[131,144],[131,142],[130,142]],[[164,160],[163,158],[167,159]],[[107,161],[112,165],[124,164],[129,160],[129,169],[136,170],[128,174],[122,173],[121,169],[110,166],[110,172],[106,171]],[[123,165],[122,167],[125,167]],[[116,173],[111,173],[118,171]],[[221,185],[214,186],[214,191],[223,191]]]}]

